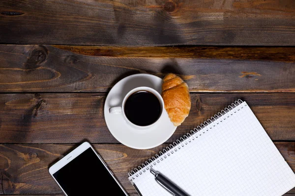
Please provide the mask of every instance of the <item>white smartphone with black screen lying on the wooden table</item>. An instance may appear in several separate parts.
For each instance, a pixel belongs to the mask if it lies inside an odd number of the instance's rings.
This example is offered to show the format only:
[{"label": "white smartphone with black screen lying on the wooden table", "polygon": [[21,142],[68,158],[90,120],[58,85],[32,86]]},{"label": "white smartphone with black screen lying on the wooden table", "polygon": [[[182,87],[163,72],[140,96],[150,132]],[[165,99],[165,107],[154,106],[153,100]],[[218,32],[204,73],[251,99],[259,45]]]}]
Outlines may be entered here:
[{"label": "white smartphone with black screen lying on the wooden table", "polygon": [[[128,196],[102,158],[85,142],[49,168],[66,196]],[[107,189],[107,190],[106,190]]]}]

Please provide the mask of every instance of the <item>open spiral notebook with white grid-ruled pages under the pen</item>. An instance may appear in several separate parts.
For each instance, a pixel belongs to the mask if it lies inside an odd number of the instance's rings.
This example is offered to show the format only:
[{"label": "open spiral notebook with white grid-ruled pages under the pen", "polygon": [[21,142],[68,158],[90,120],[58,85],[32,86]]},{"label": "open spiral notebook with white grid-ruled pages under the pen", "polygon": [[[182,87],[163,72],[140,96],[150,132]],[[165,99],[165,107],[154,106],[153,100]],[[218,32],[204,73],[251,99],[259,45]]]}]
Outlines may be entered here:
[{"label": "open spiral notebook with white grid-ruled pages under the pen", "polygon": [[150,169],[190,196],[281,196],[295,174],[246,102],[238,100],[129,173],[142,196],[171,196]]}]

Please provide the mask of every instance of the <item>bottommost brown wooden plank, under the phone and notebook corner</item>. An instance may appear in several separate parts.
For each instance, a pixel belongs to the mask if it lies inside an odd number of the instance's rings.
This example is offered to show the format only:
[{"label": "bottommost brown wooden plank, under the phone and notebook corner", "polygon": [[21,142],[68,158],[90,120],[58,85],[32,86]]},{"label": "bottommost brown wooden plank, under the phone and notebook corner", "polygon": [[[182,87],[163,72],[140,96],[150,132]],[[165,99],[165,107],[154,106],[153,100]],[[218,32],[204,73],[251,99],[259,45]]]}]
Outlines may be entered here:
[{"label": "bottommost brown wooden plank, under the phone and notebook corner", "polygon": [[[276,147],[295,171],[294,142],[276,142]],[[59,186],[48,172],[48,165],[62,158],[62,154],[75,145],[26,144],[0,145],[0,153],[5,156],[3,185],[5,194],[60,194]],[[128,174],[131,169],[158,153],[164,146],[148,150],[137,150],[122,145],[94,145],[98,153],[114,172],[124,189],[136,194]],[[0,157],[2,158],[2,157]],[[9,164],[8,164],[9,162]],[[295,193],[294,190],[289,193]]]}]

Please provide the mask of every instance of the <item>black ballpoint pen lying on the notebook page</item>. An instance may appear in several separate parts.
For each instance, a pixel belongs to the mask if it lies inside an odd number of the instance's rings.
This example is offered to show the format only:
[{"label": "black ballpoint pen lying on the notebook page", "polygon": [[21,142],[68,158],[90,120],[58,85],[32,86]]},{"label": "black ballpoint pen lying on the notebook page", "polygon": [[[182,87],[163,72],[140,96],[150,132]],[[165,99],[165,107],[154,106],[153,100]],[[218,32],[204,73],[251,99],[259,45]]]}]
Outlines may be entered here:
[{"label": "black ballpoint pen lying on the notebook page", "polygon": [[173,196],[189,196],[180,188],[178,188],[173,182],[171,182],[168,178],[162,175],[159,172],[155,172],[150,169],[150,172],[155,176],[155,181],[161,185],[166,191],[168,191]]}]

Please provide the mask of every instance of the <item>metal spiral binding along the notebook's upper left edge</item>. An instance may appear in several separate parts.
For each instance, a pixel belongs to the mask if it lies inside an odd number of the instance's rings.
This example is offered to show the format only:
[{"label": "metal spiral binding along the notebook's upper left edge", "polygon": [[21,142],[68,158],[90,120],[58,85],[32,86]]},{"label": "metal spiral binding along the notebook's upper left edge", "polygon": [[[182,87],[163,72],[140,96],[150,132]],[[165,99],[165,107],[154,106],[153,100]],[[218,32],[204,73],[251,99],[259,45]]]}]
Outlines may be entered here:
[{"label": "metal spiral binding along the notebook's upper left edge", "polygon": [[[244,108],[244,106],[247,106],[246,103],[244,103],[243,105],[242,103],[243,101],[241,99],[237,99],[234,103],[232,103],[232,105],[228,105],[228,107],[224,108],[224,110],[218,112],[217,115],[215,114],[214,117],[211,117],[211,119],[207,119],[207,121],[201,123],[200,126],[197,126],[197,128],[191,130],[190,133],[186,133],[185,135],[183,135],[183,137],[180,137],[179,140],[173,142],[173,145],[170,144],[169,147],[164,148],[162,151],[159,152],[160,155],[156,154],[155,156],[151,157],[151,159],[148,159],[149,162],[146,161],[145,164],[143,163],[142,167],[138,166],[138,169],[135,168],[134,170],[128,172],[129,177],[135,179],[135,177],[138,177],[142,174],[141,171],[146,172],[153,166],[157,165],[157,163],[160,163],[168,156],[171,156],[171,154],[173,154],[174,152],[180,150],[181,147],[188,145],[199,136],[205,134],[214,126],[217,126],[219,123],[222,123],[224,120],[234,115],[240,109]],[[237,107],[239,105],[241,105],[240,108]]]}]

